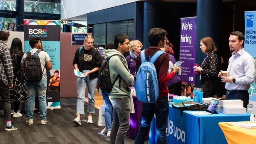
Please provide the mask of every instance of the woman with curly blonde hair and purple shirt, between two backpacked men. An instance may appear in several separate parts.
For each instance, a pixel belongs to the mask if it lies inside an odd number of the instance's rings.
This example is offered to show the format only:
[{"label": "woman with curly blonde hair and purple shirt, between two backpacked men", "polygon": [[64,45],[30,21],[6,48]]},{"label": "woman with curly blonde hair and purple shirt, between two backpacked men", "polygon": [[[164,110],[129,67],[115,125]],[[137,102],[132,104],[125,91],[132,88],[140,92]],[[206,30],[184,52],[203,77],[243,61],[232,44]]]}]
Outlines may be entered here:
[{"label": "woman with curly blonde hair and purple shirt, between two backpacked men", "polygon": [[138,53],[141,52],[141,48],[143,47],[143,45],[139,40],[134,40],[134,41],[130,41],[129,47],[131,51],[130,51],[130,55],[126,57],[126,61],[128,64],[129,71],[133,76],[135,76],[137,55]]}]

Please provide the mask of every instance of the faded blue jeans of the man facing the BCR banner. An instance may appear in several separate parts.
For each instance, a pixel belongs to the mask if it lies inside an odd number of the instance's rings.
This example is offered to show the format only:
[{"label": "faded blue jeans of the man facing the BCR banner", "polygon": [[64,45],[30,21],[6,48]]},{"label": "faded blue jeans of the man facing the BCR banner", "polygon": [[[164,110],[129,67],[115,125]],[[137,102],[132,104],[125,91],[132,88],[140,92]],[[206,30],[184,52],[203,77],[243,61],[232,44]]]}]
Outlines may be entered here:
[{"label": "faded blue jeans of the man facing the BCR banner", "polygon": [[38,96],[39,112],[41,120],[46,120],[46,87],[47,79],[42,78],[38,82],[26,82],[27,89],[27,119],[33,119],[35,107],[35,94]]}]

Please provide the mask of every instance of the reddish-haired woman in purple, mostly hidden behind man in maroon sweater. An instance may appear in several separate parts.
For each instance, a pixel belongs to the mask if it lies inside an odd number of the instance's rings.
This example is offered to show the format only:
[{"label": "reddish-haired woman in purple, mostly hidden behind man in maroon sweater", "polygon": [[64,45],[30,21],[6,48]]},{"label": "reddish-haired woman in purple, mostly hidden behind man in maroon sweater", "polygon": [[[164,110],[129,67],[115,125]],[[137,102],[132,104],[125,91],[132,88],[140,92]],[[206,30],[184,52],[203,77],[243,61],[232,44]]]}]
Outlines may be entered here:
[{"label": "reddish-haired woman in purple, mostly hidden behind man in maroon sweater", "polygon": [[[175,64],[176,60],[174,58],[174,50],[173,50],[173,45],[170,42],[167,42],[165,44],[165,47],[161,48],[162,51],[168,53],[170,61]],[[169,94],[175,94],[175,95],[180,95],[181,92],[181,79],[177,75],[177,73],[174,75],[174,78],[166,82]]]}]

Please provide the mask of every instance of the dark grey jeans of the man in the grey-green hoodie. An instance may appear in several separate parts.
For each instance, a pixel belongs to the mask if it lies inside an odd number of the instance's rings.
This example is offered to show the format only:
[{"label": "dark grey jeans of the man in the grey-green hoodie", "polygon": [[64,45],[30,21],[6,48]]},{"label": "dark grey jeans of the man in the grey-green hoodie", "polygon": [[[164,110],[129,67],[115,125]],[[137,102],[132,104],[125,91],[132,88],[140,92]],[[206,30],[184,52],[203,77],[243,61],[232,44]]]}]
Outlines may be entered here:
[{"label": "dark grey jeans of the man in the grey-green hoodie", "polygon": [[129,97],[110,99],[113,106],[113,122],[110,133],[110,144],[124,144],[124,138],[130,127]]}]

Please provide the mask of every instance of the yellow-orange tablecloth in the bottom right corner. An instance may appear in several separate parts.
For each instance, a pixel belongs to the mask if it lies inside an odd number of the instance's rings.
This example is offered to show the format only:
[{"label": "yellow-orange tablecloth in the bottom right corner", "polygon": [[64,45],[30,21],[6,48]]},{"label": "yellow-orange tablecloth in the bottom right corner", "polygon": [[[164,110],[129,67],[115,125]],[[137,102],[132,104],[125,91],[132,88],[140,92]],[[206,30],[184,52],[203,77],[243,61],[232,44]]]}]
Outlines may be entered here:
[{"label": "yellow-orange tablecloth in the bottom right corner", "polygon": [[228,144],[256,144],[256,129],[246,129],[232,126],[228,123],[219,123]]}]

